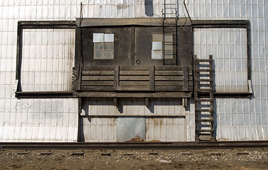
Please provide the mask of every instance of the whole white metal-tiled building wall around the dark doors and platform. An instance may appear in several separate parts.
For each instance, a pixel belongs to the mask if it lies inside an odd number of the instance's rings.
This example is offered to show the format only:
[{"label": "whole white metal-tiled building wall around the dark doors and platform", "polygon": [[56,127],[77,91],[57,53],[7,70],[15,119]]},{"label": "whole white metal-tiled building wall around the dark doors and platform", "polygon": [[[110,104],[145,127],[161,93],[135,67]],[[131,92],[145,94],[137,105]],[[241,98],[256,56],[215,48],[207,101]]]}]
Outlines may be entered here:
[{"label": "whole white metal-tiled building wall around the dark doors and platform", "polygon": [[[0,0],[0,141],[1,142],[74,142],[77,141],[78,131],[78,99],[77,98],[40,98],[20,99],[15,97],[16,90],[16,40],[18,21],[75,21],[80,16],[80,2],[71,0],[48,0],[48,1],[16,1]],[[179,0],[179,16],[187,16],[182,0]],[[153,4],[146,4],[144,0],[133,1],[88,1],[82,0],[84,18],[161,18],[162,0],[153,1]],[[251,66],[252,66],[252,98],[216,98],[216,140],[268,140],[268,60],[267,60],[267,31],[268,31],[268,4],[266,0],[209,0],[195,1],[186,0],[189,14],[193,20],[249,20],[251,24]],[[41,30],[38,30],[41,31]],[[72,30],[42,30],[42,33],[33,31],[24,32],[23,40],[26,40],[26,47],[23,50],[26,60],[23,60],[23,89],[39,91],[54,89],[55,91],[69,91],[69,76],[72,72],[74,43]],[[247,90],[247,82],[244,79],[243,62],[244,55],[223,55],[220,52],[220,45],[232,43],[230,35],[239,37],[243,30],[194,30],[194,52],[200,57],[213,55],[216,66],[222,66],[219,61],[224,61],[223,67],[216,67],[216,88],[228,89],[229,91],[242,89]],[[227,39],[221,43],[220,36],[214,37],[213,42],[209,39],[201,40],[199,33],[213,35],[213,33],[227,32]],[[220,34],[220,33],[219,33]],[[39,37],[41,36],[41,37]],[[28,37],[28,38],[27,38]],[[224,37],[224,36],[223,36]],[[50,40],[52,38],[52,40]],[[230,49],[230,54],[238,52],[243,48],[243,39],[235,41],[235,51]],[[27,42],[28,40],[28,42]],[[38,40],[38,41],[37,41]],[[35,43],[36,42],[36,43]],[[219,43],[215,48],[213,45]],[[38,48],[31,48],[34,45]],[[39,43],[39,44],[38,44]],[[28,45],[28,46],[27,46]],[[32,46],[31,46],[32,45]],[[50,45],[55,47],[50,49]],[[213,46],[213,49],[211,47]],[[200,47],[205,51],[197,50]],[[28,49],[28,50],[27,50]],[[34,49],[34,50],[33,50]],[[39,50],[38,50],[39,49]],[[54,55],[52,55],[54,54]],[[240,51],[242,54],[242,50]],[[52,57],[53,56],[53,57]],[[220,60],[219,60],[220,59]],[[230,60],[235,60],[235,67]],[[55,64],[55,62],[57,64]],[[46,67],[45,67],[45,65]],[[56,66],[51,66],[55,64]],[[223,70],[224,69],[224,70]],[[227,69],[227,70],[225,70]],[[231,74],[222,72],[234,72]],[[218,77],[217,77],[218,75]],[[242,75],[239,77],[239,75]],[[46,78],[44,78],[46,77]],[[218,86],[217,85],[222,85]],[[238,85],[238,86],[236,86]],[[216,89],[217,90],[217,89]],[[220,90],[220,89],[219,89]],[[131,99],[132,100],[132,99]],[[152,114],[145,106],[140,106],[138,100],[123,101],[123,114]],[[89,100],[84,104],[85,108],[96,107],[97,101]],[[99,101],[97,110],[106,111],[111,101],[104,99]],[[104,104],[106,103],[106,104]],[[133,104],[129,104],[133,103]],[[152,101],[152,106],[157,114],[175,114],[179,101]],[[177,118],[169,123],[167,118],[151,120],[145,118],[145,128],[149,128],[150,135],[145,135],[147,140],[162,141],[193,141],[194,140],[194,115],[193,102],[189,102],[189,110],[182,111],[186,117]],[[169,110],[175,108],[175,110]],[[115,108],[108,109],[108,115],[118,114]],[[140,109],[142,112],[140,112]],[[187,112],[189,118],[187,119]],[[96,112],[91,112],[95,114]],[[103,112],[101,112],[102,114]],[[122,114],[120,113],[120,114]],[[98,113],[99,114],[99,113]],[[178,113],[180,114],[180,113]],[[140,118],[140,117],[139,117]],[[98,119],[98,118],[96,118]],[[85,127],[90,127],[86,117],[82,119]],[[93,120],[91,123],[94,123]],[[110,125],[111,120],[101,119],[96,121],[103,123],[103,128]],[[143,120],[134,122],[143,124]],[[162,137],[157,130],[157,121],[162,122],[166,127],[182,127],[186,129],[183,136],[177,134],[170,137]],[[153,124],[153,123],[155,124]],[[112,123],[126,123],[123,119],[112,121]],[[105,126],[106,125],[106,126]],[[178,125],[178,126],[177,126]],[[99,125],[95,123],[94,127]],[[152,128],[150,128],[152,127]],[[119,126],[120,128],[120,126]],[[117,129],[113,127],[113,132]],[[148,129],[147,129],[148,130]],[[120,130],[119,130],[120,131]],[[141,130],[142,131],[142,130]],[[167,131],[162,131],[167,132]],[[176,131],[172,132],[176,133]],[[85,141],[115,141],[116,136],[89,137],[89,132],[84,131]],[[144,135],[144,133],[140,133]],[[177,136],[176,136],[177,135]],[[120,136],[118,136],[120,138]]]}]

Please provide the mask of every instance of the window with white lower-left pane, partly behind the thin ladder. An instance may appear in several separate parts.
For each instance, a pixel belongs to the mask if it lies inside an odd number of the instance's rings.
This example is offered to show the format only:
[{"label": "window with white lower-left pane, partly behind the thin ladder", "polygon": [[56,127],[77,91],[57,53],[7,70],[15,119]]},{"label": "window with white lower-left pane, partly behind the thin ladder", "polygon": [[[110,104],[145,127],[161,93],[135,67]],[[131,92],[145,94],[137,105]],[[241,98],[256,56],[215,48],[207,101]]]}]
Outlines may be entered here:
[{"label": "window with white lower-left pane, partly behind the thin ladder", "polygon": [[172,42],[172,34],[152,34],[152,59],[162,59],[163,54],[164,59],[172,59]]}]

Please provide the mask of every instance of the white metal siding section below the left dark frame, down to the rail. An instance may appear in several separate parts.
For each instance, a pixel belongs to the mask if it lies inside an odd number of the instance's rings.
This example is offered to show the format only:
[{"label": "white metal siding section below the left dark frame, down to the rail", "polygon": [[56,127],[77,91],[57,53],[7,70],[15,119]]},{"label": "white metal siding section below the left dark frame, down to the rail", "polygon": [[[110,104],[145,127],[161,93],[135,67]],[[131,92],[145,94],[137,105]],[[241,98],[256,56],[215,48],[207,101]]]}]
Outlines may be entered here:
[{"label": "white metal siding section below the left dark frame, down to the rail", "polygon": [[1,142],[77,141],[77,99],[11,98],[4,107],[0,111]]}]

